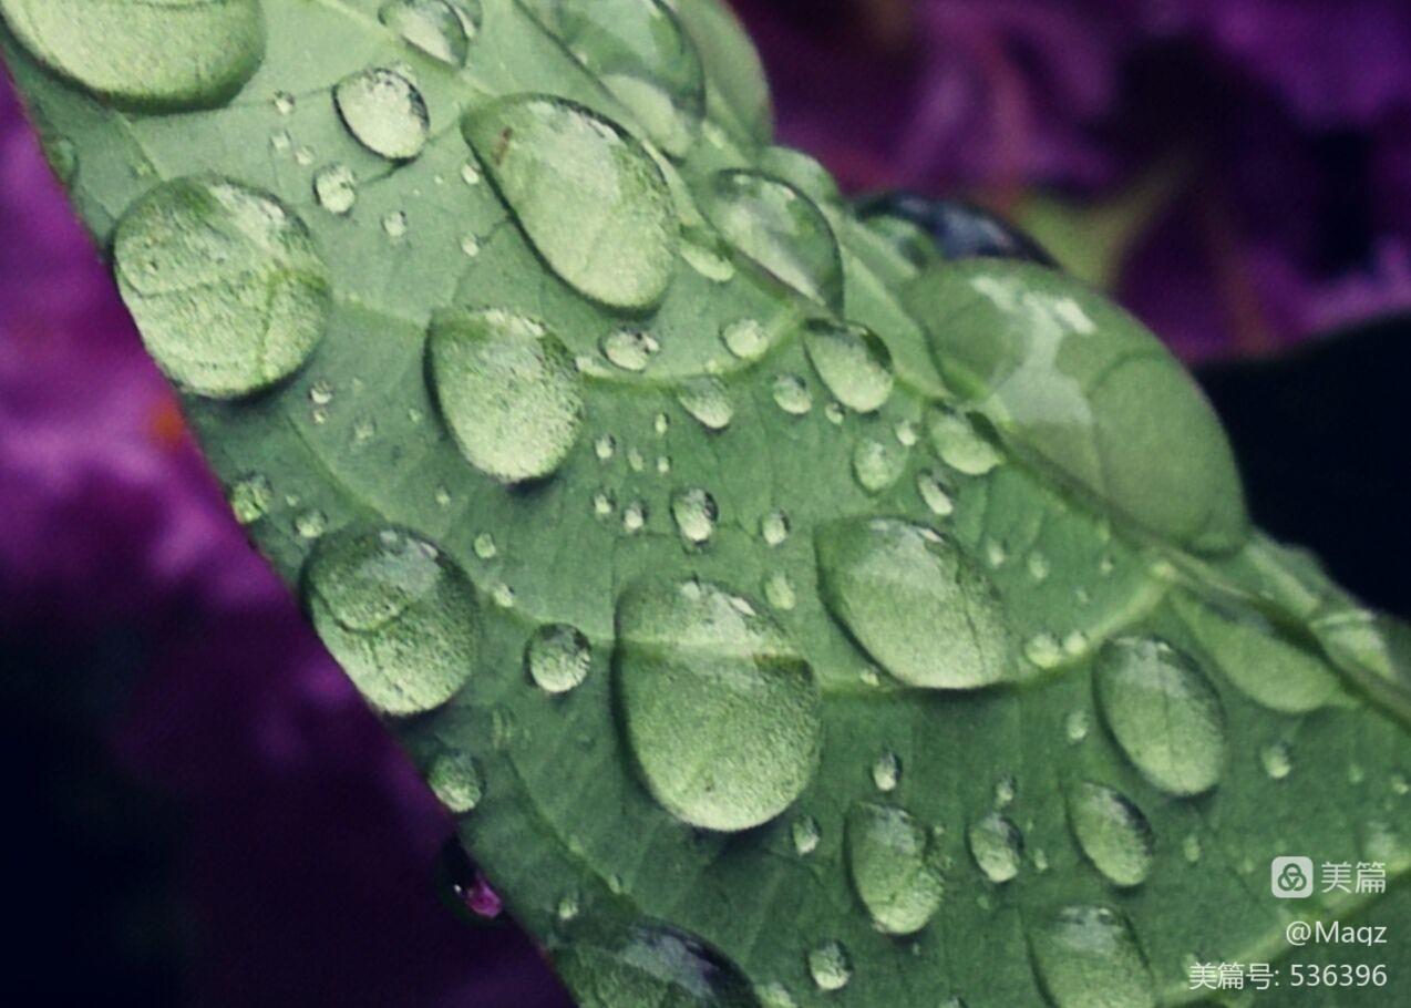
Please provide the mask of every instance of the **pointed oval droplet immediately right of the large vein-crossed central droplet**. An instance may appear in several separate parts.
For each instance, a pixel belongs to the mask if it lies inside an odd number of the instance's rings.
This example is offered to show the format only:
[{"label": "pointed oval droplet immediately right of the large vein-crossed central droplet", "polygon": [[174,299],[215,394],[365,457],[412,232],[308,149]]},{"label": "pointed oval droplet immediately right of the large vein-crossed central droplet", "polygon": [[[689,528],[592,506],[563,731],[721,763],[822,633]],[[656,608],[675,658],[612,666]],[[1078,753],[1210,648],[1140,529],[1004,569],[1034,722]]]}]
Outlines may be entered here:
[{"label": "pointed oval droplet immediately right of the large vein-crossed central droplet", "polygon": [[814,536],[828,611],[912,686],[976,689],[1006,678],[1009,634],[989,579],[931,529],[851,518]]}]

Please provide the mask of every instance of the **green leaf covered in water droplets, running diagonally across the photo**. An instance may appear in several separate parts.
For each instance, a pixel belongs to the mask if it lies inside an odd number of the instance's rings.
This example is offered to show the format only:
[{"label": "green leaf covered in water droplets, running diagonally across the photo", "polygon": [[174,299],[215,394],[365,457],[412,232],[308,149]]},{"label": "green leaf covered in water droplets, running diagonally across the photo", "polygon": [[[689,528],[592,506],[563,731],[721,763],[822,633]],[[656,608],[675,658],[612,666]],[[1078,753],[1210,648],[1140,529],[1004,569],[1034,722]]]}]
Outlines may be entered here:
[{"label": "green leaf covered in water droplets, running diagonally across the photo", "polygon": [[583,1004],[1181,1004],[1411,926],[1404,628],[1249,531],[1133,319],[769,147],[720,4],[0,13],[237,517]]}]

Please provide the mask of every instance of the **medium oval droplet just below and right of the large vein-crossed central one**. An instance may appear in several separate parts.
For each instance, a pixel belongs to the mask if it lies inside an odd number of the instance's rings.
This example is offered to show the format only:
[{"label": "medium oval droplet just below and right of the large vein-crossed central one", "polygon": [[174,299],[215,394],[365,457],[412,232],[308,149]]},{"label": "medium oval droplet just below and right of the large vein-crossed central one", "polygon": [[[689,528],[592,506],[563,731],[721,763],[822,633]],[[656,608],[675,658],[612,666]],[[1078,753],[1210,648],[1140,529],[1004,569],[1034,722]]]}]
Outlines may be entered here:
[{"label": "medium oval droplet just below and right of the large vein-crossed central one", "polygon": [[921,930],[944,891],[933,833],[902,809],[864,802],[848,812],[847,846],[852,885],[878,928]]}]

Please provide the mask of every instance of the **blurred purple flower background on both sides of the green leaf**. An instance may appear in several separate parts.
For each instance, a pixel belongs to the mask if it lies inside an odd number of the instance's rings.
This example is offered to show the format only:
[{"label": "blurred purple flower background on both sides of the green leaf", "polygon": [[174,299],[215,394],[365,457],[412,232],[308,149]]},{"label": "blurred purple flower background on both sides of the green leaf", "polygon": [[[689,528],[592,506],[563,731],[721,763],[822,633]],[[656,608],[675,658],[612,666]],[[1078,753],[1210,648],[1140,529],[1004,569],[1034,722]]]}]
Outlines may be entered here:
[{"label": "blurred purple flower background on both sides of the green leaf", "polygon": [[[780,136],[1005,210],[1188,359],[1411,309],[1411,4],[739,0]],[[247,546],[0,83],[0,717],[45,1004],[567,1001]],[[23,988],[21,988],[23,990]]]}]

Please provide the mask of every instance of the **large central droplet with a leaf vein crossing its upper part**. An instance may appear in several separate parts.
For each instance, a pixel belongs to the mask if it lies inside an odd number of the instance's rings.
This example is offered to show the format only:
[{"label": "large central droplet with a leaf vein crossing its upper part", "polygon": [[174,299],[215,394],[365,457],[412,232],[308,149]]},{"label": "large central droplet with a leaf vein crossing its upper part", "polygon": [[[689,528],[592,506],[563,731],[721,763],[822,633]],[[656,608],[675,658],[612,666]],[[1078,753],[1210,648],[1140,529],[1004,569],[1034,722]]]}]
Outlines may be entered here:
[{"label": "large central droplet with a leaf vein crossing its upper part", "polygon": [[744,830],[789,808],[821,744],[813,671],[721,587],[638,583],[618,601],[618,697],[652,795],[694,826]]}]

